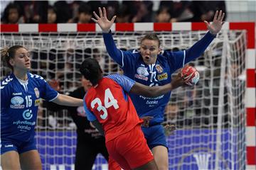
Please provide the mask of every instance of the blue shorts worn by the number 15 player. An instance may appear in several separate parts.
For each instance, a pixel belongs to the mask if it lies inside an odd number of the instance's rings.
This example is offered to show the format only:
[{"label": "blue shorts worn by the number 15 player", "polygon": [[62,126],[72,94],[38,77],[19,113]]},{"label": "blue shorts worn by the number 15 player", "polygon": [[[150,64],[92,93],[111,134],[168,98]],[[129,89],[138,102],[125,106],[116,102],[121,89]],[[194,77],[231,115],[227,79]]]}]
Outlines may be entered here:
[{"label": "blue shorts worn by the number 15 player", "polygon": [[1,154],[9,151],[16,151],[18,154],[36,149],[36,140],[28,142],[16,142],[14,140],[1,139]]}]

